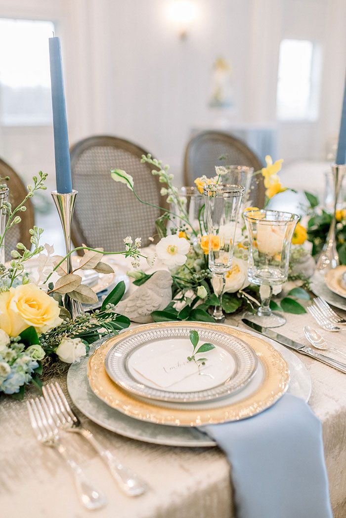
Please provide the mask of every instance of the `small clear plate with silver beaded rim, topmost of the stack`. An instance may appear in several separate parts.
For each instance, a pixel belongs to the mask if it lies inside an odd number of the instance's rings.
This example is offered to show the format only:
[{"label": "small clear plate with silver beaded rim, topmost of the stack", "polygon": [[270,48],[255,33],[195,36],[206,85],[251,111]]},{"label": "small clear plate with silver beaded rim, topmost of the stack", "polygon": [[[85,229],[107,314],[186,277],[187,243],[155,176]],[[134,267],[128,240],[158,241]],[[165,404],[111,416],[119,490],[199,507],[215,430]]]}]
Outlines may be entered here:
[{"label": "small clear plate with silver beaded rim, topmost of the stack", "polygon": [[[198,347],[205,342],[215,346],[207,353],[201,373],[187,359],[192,354],[190,329],[199,334]],[[160,367],[159,358],[162,358]],[[170,369],[176,370],[177,364],[180,369],[189,369],[188,375],[185,372],[183,379],[170,384],[166,378]],[[167,382],[168,386],[162,388],[147,379],[137,370],[143,365],[154,368],[156,375],[160,368],[163,383]],[[140,397],[171,402],[208,401],[239,392],[250,382],[256,367],[257,356],[244,341],[195,322],[189,326],[132,330],[127,336],[123,334],[115,339],[105,359],[108,376],[123,389]]]}]

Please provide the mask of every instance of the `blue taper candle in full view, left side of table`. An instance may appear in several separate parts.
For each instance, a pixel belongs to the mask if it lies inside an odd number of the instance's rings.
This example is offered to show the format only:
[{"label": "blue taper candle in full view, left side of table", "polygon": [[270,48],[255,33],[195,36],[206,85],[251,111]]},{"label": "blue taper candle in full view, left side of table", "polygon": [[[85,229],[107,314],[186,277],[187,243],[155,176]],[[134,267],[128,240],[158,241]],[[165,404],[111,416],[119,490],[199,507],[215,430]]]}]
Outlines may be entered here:
[{"label": "blue taper candle in full view, left side of table", "polygon": [[57,191],[60,194],[65,194],[72,192],[72,179],[60,38],[49,38],[49,60]]}]

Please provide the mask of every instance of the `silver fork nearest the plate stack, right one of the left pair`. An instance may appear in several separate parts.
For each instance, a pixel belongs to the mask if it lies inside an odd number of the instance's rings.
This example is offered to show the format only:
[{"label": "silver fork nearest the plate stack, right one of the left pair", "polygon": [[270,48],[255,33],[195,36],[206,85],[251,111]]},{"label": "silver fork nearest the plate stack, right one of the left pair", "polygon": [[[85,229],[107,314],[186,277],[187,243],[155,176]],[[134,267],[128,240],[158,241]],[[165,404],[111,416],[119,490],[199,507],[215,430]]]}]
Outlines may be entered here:
[{"label": "silver fork nearest the plate stack, right one of the left pair", "polygon": [[81,425],[77,415],[68,404],[58,382],[43,386],[42,391],[49,412],[57,427],[85,437],[106,463],[109,471],[124,493],[128,496],[139,496],[147,491],[147,485],[136,474],[117,461],[113,454],[94,438],[91,431]]}]

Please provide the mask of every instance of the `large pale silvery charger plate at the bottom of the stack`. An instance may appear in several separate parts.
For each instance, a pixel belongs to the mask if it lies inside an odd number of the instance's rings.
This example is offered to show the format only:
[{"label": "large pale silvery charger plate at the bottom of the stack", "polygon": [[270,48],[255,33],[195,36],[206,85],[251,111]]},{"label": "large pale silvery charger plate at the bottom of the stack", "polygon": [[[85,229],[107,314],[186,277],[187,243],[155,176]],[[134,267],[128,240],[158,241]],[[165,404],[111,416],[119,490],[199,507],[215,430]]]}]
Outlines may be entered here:
[{"label": "large pale silvery charger plate at the bottom of the stack", "polygon": [[[235,329],[229,326],[230,329]],[[240,329],[237,329],[240,331]],[[252,331],[241,330],[242,339],[256,336]],[[103,339],[95,342],[90,348],[88,356],[103,343]],[[299,357],[286,349],[281,344],[269,340],[268,342],[278,350],[289,366],[290,380],[287,392],[309,400],[311,394],[311,378],[305,365]],[[88,357],[81,359],[79,363],[72,364],[67,374],[67,389],[74,405],[91,421],[103,428],[113,431],[124,437],[176,447],[213,447],[215,442],[206,437],[201,431],[193,427],[161,426],[133,419],[128,415],[109,407],[92,392],[87,377]],[[256,374],[257,376],[257,374]],[[255,377],[251,381],[254,383]],[[237,397],[237,396],[232,396]]]}]

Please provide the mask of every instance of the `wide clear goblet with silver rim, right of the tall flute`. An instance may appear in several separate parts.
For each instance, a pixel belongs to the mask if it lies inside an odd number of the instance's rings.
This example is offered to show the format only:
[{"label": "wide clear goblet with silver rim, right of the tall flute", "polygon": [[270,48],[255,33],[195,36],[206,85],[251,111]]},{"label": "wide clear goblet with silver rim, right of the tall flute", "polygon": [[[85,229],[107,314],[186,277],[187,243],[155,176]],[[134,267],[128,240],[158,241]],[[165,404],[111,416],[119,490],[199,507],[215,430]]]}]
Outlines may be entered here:
[{"label": "wide clear goblet with silver rim, right of the tall flute", "polygon": [[299,216],[277,210],[248,210],[243,214],[248,239],[248,279],[260,285],[261,306],[246,318],[264,327],[279,327],[286,319],[273,312],[273,286],[287,280],[290,246]]}]

